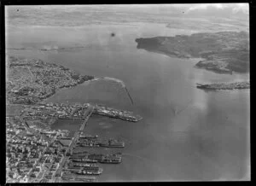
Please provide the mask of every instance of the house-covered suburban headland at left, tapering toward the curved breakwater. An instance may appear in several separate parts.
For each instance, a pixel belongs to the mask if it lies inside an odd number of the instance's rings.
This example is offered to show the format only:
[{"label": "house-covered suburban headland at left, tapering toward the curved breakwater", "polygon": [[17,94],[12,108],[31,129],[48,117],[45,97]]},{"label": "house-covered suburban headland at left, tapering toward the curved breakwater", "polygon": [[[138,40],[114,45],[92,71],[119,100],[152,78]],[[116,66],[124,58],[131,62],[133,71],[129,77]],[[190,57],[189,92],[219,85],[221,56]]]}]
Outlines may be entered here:
[{"label": "house-covered suburban headland at left, tapering toward the curved breakwater", "polygon": [[6,97],[8,104],[35,104],[55,94],[56,90],[73,87],[93,76],[74,73],[67,67],[41,60],[8,56]]}]

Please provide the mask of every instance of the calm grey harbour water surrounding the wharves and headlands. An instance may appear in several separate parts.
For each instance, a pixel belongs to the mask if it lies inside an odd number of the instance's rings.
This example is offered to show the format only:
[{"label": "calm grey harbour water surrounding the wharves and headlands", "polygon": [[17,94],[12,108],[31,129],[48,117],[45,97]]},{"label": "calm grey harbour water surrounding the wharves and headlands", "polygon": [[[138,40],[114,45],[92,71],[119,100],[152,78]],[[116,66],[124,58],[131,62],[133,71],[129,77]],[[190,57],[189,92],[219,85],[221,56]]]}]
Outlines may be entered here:
[{"label": "calm grey harbour water surrounding the wharves and headlands", "polygon": [[[7,48],[13,49],[7,49],[7,54],[125,82],[133,105],[125,90],[112,82],[80,84],[60,90],[48,100],[103,103],[143,116],[137,123],[97,115],[90,118],[84,132],[118,138],[126,144],[124,149],[114,150],[123,153],[123,162],[104,165],[99,181],[247,179],[249,90],[206,92],[196,89],[195,83],[241,81],[248,75],[196,69],[199,59],[150,53],[137,49],[135,42],[136,38],[190,32],[154,23],[8,26]],[[60,121],[53,127],[73,130],[79,123]]]}]

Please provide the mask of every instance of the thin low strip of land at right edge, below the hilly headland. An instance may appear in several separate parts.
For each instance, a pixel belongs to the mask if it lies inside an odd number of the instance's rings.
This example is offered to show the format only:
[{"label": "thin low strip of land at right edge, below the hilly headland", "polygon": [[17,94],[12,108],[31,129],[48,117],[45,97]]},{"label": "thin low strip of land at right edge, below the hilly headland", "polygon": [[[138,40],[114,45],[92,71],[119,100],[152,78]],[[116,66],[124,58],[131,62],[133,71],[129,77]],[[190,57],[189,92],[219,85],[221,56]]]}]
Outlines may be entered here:
[{"label": "thin low strip of land at right edge, below the hilly headland", "polygon": [[249,82],[236,82],[230,84],[198,84],[199,89],[205,90],[234,90],[234,89],[250,89]]}]

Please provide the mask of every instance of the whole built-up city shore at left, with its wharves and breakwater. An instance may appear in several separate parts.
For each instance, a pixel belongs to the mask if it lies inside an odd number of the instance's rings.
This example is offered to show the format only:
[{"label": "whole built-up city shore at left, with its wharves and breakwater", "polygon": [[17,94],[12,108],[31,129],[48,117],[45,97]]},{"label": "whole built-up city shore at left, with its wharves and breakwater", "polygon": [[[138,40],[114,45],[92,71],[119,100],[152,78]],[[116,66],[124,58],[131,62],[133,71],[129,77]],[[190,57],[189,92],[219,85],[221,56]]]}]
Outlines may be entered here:
[{"label": "whole built-up city shore at left, with its wharves and breakwater", "polygon": [[[102,78],[80,75],[67,67],[41,60],[8,58],[7,108],[14,110],[6,117],[8,183],[95,182],[103,171],[95,163],[122,162],[120,152],[99,154],[92,148],[122,149],[125,142],[112,137],[103,140],[97,136],[84,136],[84,127],[91,114],[132,122],[143,117],[90,103],[44,102],[56,90],[98,79]],[[125,87],[125,83],[117,78],[103,79],[116,81]],[[80,126],[73,137],[69,137],[70,131],[51,129],[50,125],[58,119],[77,119]],[[84,148],[87,148],[85,154]]]}]

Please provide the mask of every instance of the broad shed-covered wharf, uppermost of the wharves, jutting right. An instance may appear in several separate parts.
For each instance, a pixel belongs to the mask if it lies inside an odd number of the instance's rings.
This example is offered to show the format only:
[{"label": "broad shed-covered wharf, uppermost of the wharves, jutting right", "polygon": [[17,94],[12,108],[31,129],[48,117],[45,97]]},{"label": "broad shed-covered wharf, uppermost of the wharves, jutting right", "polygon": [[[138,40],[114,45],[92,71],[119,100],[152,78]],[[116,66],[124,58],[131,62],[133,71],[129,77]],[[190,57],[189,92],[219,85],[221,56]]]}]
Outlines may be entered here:
[{"label": "broad shed-covered wharf, uppermost of the wharves, jutting right", "polygon": [[108,108],[102,105],[96,105],[94,108],[94,113],[99,114],[99,115],[104,115],[108,116],[110,118],[115,118],[115,119],[123,119],[127,121],[132,121],[132,122],[137,122],[141,119],[143,119],[142,116],[140,115],[134,115],[130,111],[121,111],[117,110],[114,108]]}]

